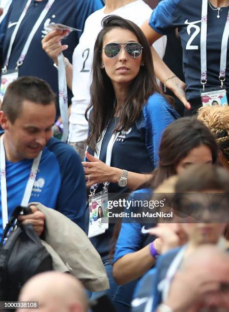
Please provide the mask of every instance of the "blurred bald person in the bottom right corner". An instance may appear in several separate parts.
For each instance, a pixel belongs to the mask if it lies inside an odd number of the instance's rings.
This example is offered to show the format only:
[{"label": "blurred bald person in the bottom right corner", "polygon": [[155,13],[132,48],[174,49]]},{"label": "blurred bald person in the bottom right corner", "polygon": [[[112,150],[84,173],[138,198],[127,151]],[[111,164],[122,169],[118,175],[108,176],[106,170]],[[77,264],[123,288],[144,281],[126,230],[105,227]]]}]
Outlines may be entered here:
[{"label": "blurred bald person in the bottom right corner", "polygon": [[229,255],[216,246],[199,247],[175,274],[157,312],[228,312]]}]

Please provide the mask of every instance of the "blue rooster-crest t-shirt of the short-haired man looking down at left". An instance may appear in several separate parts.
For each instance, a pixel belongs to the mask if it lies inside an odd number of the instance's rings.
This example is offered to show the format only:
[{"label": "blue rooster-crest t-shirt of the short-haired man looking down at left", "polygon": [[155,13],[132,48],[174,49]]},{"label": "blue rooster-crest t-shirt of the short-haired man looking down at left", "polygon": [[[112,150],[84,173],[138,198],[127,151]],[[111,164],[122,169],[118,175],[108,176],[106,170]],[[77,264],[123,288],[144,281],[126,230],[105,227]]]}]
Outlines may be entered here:
[{"label": "blue rooster-crest t-shirt of the short-haired man looking down at left", "polygon": [[[8,219],[21,204],[33,160],[6,161]],[[75,150],[51,138],[43,149],[29,202],[53,208],[85,229],[86,187],[81,160]],[[3,235],[0,190],[0,237]],[[61,230],[61,229],[60,229]]]}]

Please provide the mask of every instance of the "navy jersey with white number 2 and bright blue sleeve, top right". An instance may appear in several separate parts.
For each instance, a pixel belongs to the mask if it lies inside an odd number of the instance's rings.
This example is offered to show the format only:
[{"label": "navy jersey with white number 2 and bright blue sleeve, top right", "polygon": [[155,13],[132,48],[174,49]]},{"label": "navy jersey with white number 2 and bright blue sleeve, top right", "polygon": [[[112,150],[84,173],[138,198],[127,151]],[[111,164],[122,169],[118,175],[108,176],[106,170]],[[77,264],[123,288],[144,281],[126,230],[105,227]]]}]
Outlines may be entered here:
[{"label": "navy jersey with white number 2 and bright blue sleeve, top right", "polygon": [[[183,68],[187,84],[187,99],[199,98],[201,89],[201,12],[202,0],[163,0],[153,11],[150,26],[158,33],[166,35],[173,29],[179,29],[183,48]],[[208,6],[207,28],[207,85],[219,86],[219,67],[222,34],[227,19],[228,7],[221,8],[220,18],[217,12]],[[229,41],[228,41],[229,44]],[[229,59],[226,62],[226,74],[229,72]],[[229,90],[228,77],[225,81]]]}]

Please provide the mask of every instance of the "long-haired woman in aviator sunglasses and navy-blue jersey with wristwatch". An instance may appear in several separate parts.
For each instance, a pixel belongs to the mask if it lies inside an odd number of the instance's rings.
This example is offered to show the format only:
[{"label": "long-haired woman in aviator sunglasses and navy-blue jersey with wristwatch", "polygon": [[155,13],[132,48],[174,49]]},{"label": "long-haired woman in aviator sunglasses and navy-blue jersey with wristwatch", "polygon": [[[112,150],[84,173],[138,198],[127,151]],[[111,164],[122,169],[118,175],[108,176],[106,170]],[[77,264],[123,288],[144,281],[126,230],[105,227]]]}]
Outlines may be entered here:
[{"label": "long-haired woman in aviator sunglasses and navy-blue jersey with wristwatch", "polygon": [[[103,19],[93,59],[89,117],[87,186],[109,183],[108,193],[125,193],[147,181],[157,166],[163,129],[178,114],[160,94],[150,46],[136,24],[119,16]],[[86,115],[87,115],[86,113]],[[113,224],[92,238],[108,276]],[[113,287],[115,285],[115,287]]]}]

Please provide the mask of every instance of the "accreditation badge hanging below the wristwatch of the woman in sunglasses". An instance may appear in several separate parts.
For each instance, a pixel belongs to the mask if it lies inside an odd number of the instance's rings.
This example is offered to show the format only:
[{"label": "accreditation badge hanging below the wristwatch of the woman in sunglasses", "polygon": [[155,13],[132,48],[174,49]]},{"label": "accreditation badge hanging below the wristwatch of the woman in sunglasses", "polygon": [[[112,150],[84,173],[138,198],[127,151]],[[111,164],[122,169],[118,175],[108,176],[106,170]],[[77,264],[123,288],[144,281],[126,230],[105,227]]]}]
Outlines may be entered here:
[{"label": "accreditation badge hanging below the wristwatch of the woman in sunglasses", "polygon": [[99,192],[89,199],[89,231],[88,237],[105,233],[109,227],[108,220],[108,193]]}]

